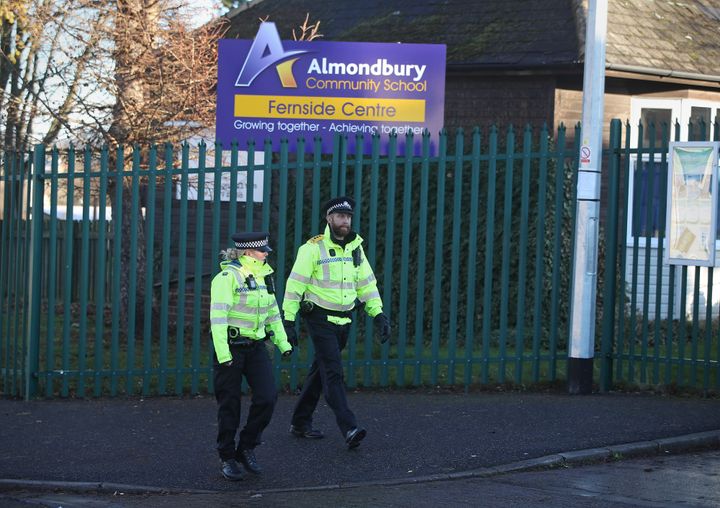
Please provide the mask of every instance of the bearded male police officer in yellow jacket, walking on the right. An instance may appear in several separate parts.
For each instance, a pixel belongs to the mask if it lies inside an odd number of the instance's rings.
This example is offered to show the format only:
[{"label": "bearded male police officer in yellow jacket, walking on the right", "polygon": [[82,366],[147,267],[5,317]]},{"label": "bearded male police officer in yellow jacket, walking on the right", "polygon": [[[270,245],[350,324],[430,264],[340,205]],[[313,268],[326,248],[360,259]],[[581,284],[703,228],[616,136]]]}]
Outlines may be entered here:
[{"label": "bearded male police officer in yellow jacket, walking on the right", "polygon": [[290,342],[297,341],[295,321],[300,315],[315,347],[290,432],[300,438],[323,437],[312,426],[322,393],[335,413],[348,449],[356,448],[366,435],[348,407],[341,360],[352,311],[358,302],[373,318],[381,342],[390,337],[390,321],[382,311],[377,281],[362,248],[363,239],[351,230],[354,208],[354,200],[345,196],[325,203],[325,232],[298,250],[283,300],[283,324]]}]

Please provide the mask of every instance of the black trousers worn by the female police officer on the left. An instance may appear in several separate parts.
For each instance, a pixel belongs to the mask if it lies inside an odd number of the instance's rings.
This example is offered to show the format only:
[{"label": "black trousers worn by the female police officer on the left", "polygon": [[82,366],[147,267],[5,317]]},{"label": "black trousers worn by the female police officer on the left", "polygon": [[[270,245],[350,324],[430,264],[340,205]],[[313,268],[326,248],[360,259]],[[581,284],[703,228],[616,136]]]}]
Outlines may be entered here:
[{"label": "black trousers worn by the female police officer on the left", "polygon": [[[261,443],[262,432],[270,423],[277,402],[272,363],[265,342],[258,341],[250,347],[231,345],[230,352],[232,365],[220,365],[217,357],[213,362],[215,400],[218,404],[217,450],[221,460],[238,458],[242,450],[252,450]],[[243,376],[252,394],[247,422],[240,431],[236,448]]]}]

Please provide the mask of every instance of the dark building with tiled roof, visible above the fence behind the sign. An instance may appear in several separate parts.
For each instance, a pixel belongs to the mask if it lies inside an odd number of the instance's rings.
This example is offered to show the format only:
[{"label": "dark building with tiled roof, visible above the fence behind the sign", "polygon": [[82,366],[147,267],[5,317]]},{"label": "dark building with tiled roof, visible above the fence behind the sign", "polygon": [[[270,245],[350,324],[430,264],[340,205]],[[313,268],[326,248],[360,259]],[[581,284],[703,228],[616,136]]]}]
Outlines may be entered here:
[{"label": "dark building with tiled roof, visible above the fence behind the sign", "polygon": [[[252,39],[268,19],[291,38],[309,14],[323,40],[446,44],[447,128],[574,125],[586,13],[587,0],[255,0],[227,15],[226,37]],[[611,118],[714,119],[719,26],[711,0],[609,0],[606,129]]]}]

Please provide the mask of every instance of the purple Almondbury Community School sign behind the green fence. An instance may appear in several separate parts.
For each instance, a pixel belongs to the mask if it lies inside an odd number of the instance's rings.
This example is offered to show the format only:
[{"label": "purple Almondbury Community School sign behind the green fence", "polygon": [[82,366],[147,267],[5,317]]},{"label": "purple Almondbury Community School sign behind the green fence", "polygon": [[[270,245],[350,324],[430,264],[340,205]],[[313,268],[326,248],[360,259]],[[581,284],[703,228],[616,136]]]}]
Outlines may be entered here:
[{"label": "purple Almondbury Community School sign behind the green fence", "polygon": [[357,134],[370,153],[379,134],[386,154],[392,132],[403,153],[413,133],[414,153],[422,133],[437,151],[443,127],[445,46],[367,42],[281,41],[274,23],[261,23],[255,40],[223,39],[218,51],[215,134],[225,148],[281,139],[322,139],[333,149],[336,134],[355,151]]}]

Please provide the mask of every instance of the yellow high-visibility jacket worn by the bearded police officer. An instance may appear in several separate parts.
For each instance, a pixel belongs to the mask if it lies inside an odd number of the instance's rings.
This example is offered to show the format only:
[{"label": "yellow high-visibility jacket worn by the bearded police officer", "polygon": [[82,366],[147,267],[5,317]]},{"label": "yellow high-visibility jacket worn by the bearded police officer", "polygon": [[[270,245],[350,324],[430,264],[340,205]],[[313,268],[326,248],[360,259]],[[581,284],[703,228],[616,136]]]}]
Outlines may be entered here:
[{"label": "yellow high-visibility jacket worn by the bearded police officer", "polygon": [[[375,274],[365,257],[362,238],[351,233],[345,247],[332,241],[330,227],[325,233],[308,240],[298,249],[295,264],[285,286],[283,313],[285,319],[294,321],[303,298],[323,309],[347,312],[354,308],[355,300],[365,304],[365,312],[371,317],[382,312],[382,300],[377,288]],[[359,264],[353,261],[353,251],[358,250]],[[328,321],[345,324],[345,317],[328,316]]]}]

